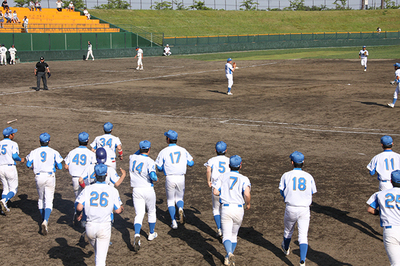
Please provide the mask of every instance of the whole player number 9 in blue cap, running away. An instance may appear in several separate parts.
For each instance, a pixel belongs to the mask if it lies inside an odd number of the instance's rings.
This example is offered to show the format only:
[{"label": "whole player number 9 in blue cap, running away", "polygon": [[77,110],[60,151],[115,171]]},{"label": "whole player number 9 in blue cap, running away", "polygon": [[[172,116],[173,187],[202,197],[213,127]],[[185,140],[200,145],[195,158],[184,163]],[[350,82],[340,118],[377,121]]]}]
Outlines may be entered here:
[{"label": "whole player number 9 in blue cap, running away", "polygon": [[28,154],[26,166],[32,168],[35,173],[36,188],[39,194],[38,207],[43,218],[42,234],[47,235],[56,187],[56,167],[62,169],[63,158],[58,151],[49,147],[50,135],[48,133],[40,134],[39,140],[41,147]]}]

